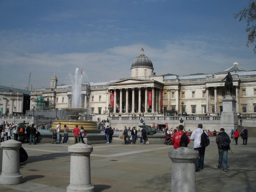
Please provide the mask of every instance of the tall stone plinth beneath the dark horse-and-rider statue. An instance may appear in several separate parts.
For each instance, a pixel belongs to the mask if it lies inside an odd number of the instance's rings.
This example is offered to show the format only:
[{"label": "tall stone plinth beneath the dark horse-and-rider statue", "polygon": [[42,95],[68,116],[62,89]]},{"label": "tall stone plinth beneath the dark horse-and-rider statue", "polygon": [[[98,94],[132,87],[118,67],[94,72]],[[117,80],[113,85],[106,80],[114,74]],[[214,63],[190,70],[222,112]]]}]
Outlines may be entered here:
[{"label": "tall stone plinth beneath the dark horse-and-rider statue", "polygon": [[226,133],[229,133],[231,129],[237,129],[238,119],[236,112],[236,100],[226,95],[222,99],[223,111],[221,112],[221,128],[225,129]]}]

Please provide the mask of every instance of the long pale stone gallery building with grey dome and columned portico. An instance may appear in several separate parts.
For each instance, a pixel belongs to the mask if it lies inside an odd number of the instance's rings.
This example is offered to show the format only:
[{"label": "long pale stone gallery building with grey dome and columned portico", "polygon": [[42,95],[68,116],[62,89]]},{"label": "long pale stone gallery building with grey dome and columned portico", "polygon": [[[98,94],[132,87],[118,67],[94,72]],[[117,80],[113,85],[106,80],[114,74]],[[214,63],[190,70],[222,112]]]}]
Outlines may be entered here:
[{"label": "long pale stone gallery building with grey dome and columned portico", "polygon": [[[168,69],[167,69],[168,70]],[[256,70],[247,70],[234,63],[228,69],[212,74],[157,76],[151,60],[140,55],[131,64],[131,77],[110,82],[82,84],[80,108],[89,108],[96,118],[110,114],[170,116],[220,115],[226,93],[227,72],[233,77],[233,97],[236,111],[243,118],[256,117]],[[30,94],[30,109],[61,109],[72,106],[72,87],[58,85],[55,74],[49,88],[34,89]],[[1,101],[1,100],[0,100]],[[6,102],[4,102],[6,103]],[[2,107],[3,102],[0,103]]]}]

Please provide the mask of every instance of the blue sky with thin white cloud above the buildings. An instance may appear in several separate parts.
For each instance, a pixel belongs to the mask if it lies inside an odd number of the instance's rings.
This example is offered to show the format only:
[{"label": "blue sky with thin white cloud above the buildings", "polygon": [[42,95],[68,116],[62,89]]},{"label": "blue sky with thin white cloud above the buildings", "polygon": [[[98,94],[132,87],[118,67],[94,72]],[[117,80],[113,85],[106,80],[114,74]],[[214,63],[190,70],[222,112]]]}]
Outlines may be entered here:
[{"label": "blue sky with thin white cloud above the buildings", "polygon": [[24,89],[130,77],[140,49],[156,75],[216,73],[238,62],[256,69],[247,0],[0,0],[0,84]]}]

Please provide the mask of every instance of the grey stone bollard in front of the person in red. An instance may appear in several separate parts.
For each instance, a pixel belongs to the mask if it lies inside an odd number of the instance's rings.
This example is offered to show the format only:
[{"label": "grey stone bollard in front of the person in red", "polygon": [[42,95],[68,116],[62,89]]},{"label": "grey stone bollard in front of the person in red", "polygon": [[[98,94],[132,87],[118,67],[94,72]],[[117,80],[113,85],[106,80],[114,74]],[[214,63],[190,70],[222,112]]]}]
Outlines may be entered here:
[{"label": "grey stone bollard in front of the person in red", "polygon": [[195,160],[199,153],[187,147],[169,151],[172,160],[172,189],[174,192],[195,192]]}]

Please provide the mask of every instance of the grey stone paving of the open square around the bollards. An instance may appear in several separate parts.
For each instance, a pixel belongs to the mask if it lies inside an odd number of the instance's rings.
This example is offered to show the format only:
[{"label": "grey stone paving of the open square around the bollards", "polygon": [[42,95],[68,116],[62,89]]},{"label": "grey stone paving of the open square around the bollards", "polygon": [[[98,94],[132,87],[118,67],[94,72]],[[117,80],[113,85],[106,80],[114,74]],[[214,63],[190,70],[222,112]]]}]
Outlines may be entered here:
[{"label": "grey stone paving of the open square around the bollards", "polygon": [[[204,169],[196,172],[197,192],[256,192],[256,138],[247,145],[235,145],[228,152],[228,171],[216,169],[218,149],[215,137],[206,149]],[[150,142],[150,141],[149,141]],[[70,183],[71,144],[23,144],[29,159],[20,165],[23,183],[0,185],[1,192],[65,192]],[[189,143],[193,148],[193,141]],[[91,183],[95,192],[169,192],[172,145],[96,144],[91,159]],[[186,171],[186,170],[185,170]],[[182,179],[186,182],[186,178]]]}]

